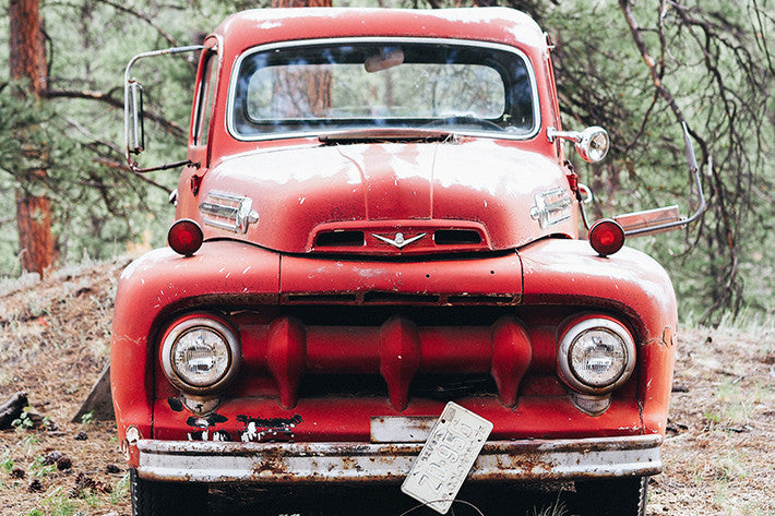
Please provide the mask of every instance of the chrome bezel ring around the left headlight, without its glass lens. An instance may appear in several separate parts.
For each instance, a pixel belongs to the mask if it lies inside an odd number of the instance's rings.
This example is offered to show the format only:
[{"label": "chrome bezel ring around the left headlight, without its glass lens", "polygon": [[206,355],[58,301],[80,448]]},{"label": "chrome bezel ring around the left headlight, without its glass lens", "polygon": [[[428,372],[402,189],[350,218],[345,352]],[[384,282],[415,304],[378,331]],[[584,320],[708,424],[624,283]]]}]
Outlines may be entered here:
[{"label": "chrome bezel ring around the left headlight, without its glass lens", "polygon": [[[196,383],[187,379],[183,371],[176,367],[175,353],[187,335],[204,329],[220,339],[217,344],[222,347],[226,364],[216,379],[207,383]],[[193,395],[217,394],[226,388],[239,371],[241,362],[241,347],[236,332],[224,321],[211,315],[186,316],[174,323],[164,334],[162,340],[162,368],[169,382],[183,393]]]}]

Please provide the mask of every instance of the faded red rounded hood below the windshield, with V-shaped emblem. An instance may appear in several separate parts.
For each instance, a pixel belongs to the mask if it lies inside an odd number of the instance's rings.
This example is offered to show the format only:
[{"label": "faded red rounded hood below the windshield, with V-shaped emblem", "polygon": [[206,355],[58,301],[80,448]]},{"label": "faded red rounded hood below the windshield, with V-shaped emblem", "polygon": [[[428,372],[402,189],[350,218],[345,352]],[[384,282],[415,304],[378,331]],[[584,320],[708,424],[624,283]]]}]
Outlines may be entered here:
[{"label": "faded red rounded hood below the windshield, with V-shaped emblem", "polygon": [[238,238],[283,252],[321,251],[315,235],[343,230],[393,240],[398,232],[427,236],[403,249],[350,242],[349,252],[451,250],[433,249],[439,228],[478,232],[477,249],[511,249],[550,233],[575,235],[570,206],[562,209],[563,221],[541,228],[536,196],[552,191],[561,192],[563,203],[570,200],[557,164],[488,140],[290,146],[225,159],[205,176],[200,208],[223,203],[222,194],[249,199],[254,213],[247,231],[214,227],[219,219],[212,207],[210,214],[179,215],[203,220],[205,238]]}]

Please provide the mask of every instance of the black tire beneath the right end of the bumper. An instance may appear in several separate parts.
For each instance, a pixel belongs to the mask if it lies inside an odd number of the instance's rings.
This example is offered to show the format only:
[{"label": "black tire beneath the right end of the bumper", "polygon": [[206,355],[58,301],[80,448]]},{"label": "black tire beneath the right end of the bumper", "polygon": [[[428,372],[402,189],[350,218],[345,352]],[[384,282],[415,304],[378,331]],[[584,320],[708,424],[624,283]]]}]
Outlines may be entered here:
[{"label": "black tire beneath the right end of the bumper", "polygon": [[648,477],[576,482],[579,516],[645,516]]}]

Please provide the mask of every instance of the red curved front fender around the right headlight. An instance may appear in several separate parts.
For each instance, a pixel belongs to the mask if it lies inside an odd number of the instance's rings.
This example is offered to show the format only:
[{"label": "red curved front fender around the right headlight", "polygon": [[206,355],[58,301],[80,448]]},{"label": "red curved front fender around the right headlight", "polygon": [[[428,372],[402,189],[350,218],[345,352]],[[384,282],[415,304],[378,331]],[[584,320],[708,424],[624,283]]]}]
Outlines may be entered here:
[{"label": "red curved front fender around the right headlight", "polygon": [[599,256],[581,240],[544,240],[520,250],[525,304],[579,304],[622,313],[634,329],[639,399],[647,433],[665,433],[678,311],[672,284],[651,256],[623,248]]}]

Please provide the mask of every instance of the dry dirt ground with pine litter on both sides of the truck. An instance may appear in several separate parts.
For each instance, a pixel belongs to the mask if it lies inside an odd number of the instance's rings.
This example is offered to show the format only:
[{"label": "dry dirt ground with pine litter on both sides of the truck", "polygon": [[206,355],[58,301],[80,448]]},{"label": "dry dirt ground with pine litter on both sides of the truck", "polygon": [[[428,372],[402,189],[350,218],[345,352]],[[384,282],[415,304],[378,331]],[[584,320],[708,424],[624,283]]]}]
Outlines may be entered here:
[{"label": "dry dirt ground with pine litter on both sides of the truck", "polygon": [[[0,404],[26,392],[33,412],[0,431],[1,515],[131,514],[114,423],[71,422],[107,361],[126,264],[0,283]],[[773,325],[682,328],[676,372],[647,514],[775,515]]]}]

